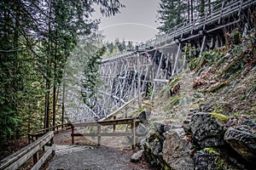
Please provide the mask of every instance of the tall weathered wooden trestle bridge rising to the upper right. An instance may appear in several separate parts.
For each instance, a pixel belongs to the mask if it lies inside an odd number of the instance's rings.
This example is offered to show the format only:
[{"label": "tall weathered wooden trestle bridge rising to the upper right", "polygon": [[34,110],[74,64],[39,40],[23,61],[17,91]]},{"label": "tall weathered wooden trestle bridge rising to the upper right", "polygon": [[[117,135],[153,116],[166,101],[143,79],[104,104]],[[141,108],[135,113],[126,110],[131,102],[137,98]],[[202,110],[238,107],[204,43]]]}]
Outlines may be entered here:
[{"label": "tall weathered wooden trestle bridge rising to the upper right", "polygon": [[[140,97],[140,93],[152,99],[157,90],[187,67],[188,58],[198,56],[207,48],[223,47],[225,34],[235,29],[245,36],[253,28],[253,11],[255,0],[220,3],[198,20],[143,42],[137,51],[102,59],[100,73],[106,87],[91,101],[96,106],[87,110],[88,115],[96,119],[106,117],[131,99]],[[198,50],[184,49],[186,46]],[[184,50],[190,51],[183,53]]]}]

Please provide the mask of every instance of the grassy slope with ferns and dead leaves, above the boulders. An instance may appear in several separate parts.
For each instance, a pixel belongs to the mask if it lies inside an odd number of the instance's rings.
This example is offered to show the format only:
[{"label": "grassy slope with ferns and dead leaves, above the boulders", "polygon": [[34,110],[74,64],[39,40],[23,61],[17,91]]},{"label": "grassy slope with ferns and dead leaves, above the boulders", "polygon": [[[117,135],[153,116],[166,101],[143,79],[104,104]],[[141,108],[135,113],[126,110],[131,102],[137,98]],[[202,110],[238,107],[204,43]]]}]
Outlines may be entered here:
[{"label": "grassy slope with ferns and dead leaves, above the boulders", "polygon": [[161,90],[157,100],[158,104],[163,104],[167,116],[173,118],[183,114],[184,108],[187,111],[214,111],[225,116],[255,116],[255,32],[239,41],[237,32],[234,35],[236,37],[230,38],[235,38],[236,43],[231,39],[223,48],[189,59],[189,70],[174,77]]}]

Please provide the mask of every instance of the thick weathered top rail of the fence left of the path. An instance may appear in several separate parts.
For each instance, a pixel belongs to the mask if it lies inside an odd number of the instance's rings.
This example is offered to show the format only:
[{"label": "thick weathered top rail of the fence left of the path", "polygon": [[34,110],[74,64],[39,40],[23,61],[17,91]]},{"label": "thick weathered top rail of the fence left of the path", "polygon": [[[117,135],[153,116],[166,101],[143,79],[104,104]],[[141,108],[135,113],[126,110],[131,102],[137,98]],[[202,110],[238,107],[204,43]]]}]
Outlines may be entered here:
[{"label": "thick weathered top rail of the fence left of the path", "polygon": [[32,144],[28,144],[26,147],[0,161],[0,169],[17,169],[38,150],[40,150],[44,144],[47,144],[53,137],[53,132],[44,134],[43,137],[36,140]]}]

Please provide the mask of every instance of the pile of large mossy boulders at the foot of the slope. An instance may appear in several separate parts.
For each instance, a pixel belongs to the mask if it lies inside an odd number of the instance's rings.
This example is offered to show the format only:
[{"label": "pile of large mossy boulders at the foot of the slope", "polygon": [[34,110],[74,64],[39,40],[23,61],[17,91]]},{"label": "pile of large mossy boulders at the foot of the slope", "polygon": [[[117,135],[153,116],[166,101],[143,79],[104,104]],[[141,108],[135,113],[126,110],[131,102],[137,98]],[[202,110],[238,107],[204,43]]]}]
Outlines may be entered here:
[{"label": "pile of large mossy boulders at the foot of the slope", "polygon": [[[141,141],[147,161],[160,169],[253,169],[256,123],[228,122],[217,113],[194,113],[183,126],[154,123]],[[149,123],[152,124],[152,123]]]}]

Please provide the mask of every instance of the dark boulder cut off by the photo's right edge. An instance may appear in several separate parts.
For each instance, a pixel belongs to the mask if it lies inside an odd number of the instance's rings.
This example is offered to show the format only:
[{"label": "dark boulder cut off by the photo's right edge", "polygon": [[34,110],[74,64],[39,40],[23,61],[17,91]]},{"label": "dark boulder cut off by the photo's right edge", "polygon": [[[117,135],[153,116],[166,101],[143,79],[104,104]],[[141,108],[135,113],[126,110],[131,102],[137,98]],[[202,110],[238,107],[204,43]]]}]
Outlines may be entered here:
[{"label": "dark boulder cut off by the photo's right edge", "polygon": [[[224,134],[225,141],[248,162],[256,160],[256,122],[246,121],[241,126],[230,127]],[[254,162],[253,162],[254,163]]]}]

